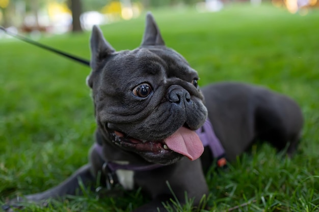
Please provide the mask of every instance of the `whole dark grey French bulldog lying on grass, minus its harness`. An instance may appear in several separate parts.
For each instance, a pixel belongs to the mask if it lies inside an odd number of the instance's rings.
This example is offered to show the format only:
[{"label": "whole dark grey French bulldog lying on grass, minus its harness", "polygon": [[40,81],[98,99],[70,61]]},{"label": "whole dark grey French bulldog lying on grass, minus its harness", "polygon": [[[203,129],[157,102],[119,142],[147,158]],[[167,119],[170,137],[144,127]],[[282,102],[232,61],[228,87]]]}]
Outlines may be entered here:
[{"label": "whole dark grey French bulldog lying on grass, minus its harness", "polygon": [[[79,189],[79,178],[88,183],[101,174],[105,184],[112,172],[105,164],[115,163],[142,167],[114,171],[124,188],[141,187],[152,198],[135,211],[164,209],[162,201],[171,197],[166,181],[180,202],[186,191],[198,204],[208,193],[203,169],[214,156],[194,131],[207,116],[229,160],[255,140],[270,141],[278,150],[289,145],[288,154],[295,152],[303,118],[294,101],[242,83],[217,83],[201,91],[197,72],[165,46],[151,14],[141,47],[116,52],[94,27],[91,53],[87,82],[93,90],[95,138],[100,149],[95,145],[89,164],[61,185],[26,196],[30,201],[73,195]],[[143,168],[149,166],[153,168]]]}]

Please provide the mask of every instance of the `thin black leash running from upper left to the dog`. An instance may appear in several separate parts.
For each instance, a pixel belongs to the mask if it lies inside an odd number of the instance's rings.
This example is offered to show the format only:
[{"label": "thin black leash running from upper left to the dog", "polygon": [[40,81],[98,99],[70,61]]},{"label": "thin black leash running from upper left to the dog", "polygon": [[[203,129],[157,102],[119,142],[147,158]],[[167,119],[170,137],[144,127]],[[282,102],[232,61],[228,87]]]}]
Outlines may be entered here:
[{"label": "thin black leash running from upper left to the dog", "polygon": [[55,52],[55,53],[60,54],[60,55],[62,55],[62,56],[68,57],[69,59],[73,59],[73,60],[75,60],[75,61],[78,62],[78,63],[82,63],[83,65],[90,66],[90,61],[87,60],[87,59],[83,59],[83,58],[80,58],[80,57],[78,57],[78,56],[74,56],[74,55],[72,55],[72,54],[69,54],[69,53],[60,51],[60,50],[55,49],[55,48],[52,48],[52,47],[50,47],[50,46],[43,45],[43,44],[38,43],[38,42],[36,42],[36,41],[33,41],[33,40],[29,39],[29,38],[23,37],[23,36],[21,36],[21,35],[19,35],[19,34],[12,33],[12,32],[10,32],[10,31],[7,31],[7,29],[6,29],[5,27],[3,27],[3,26],[0,26],[0,30],[4,31],[4,32],[7,33],[8,35],[10,35],[10,36],[12,36],[12,37],[14,37],[14,38],[17,38],[17,39],[19,39],[19,40],[21,40],[21,41],[24,41],[24,42],[26,42],[26,43],[33,44],[33,45],[35,45],[35,46],[38,46],[38,47],[43,48],[43,49],[46,49],[46,50],[48,50],[48,51],[52,51],[52,52]]}]

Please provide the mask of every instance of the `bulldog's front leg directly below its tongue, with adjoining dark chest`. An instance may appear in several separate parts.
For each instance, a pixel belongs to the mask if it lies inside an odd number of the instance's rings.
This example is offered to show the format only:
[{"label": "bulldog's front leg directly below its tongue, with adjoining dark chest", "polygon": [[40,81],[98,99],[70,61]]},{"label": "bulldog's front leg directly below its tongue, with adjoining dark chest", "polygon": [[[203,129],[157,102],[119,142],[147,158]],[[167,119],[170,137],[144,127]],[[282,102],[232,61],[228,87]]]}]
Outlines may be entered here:
[{"label": "bulldog's front leg directly below its tongue, with adjoining dark chest", "polygon": [[[153,199],[137,208],[134,212],[167,211],[163,205],[172,204],[171,199],[185,204],[187,198],[193,199],[193,206],[199,204],[203,195],[208,194],[208,186],[202,171],[200,160],[190,161],[187,158],[153,171],[136,173],[137,185]],[[174,196],[173,196],[174,194]],[[173,207],[173,206],[172,206]]]}]

